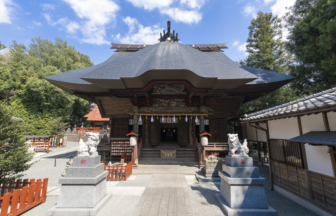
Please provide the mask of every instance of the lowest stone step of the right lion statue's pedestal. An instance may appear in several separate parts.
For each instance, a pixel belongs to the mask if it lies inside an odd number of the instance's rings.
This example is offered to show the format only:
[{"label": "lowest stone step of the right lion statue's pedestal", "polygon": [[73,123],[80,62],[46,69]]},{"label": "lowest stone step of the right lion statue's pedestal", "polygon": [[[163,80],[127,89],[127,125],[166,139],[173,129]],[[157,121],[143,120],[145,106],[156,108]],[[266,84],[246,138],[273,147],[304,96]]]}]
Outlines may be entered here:
[{"label": "lowest stone step of the right lion statue's pedestal", "polygon": [[215,193],[220,207],[225,211],[227,216],[277,216],[278,212],[272,207],[268,209],[233,209],[225,202],[219,193]]}]

